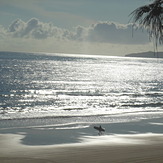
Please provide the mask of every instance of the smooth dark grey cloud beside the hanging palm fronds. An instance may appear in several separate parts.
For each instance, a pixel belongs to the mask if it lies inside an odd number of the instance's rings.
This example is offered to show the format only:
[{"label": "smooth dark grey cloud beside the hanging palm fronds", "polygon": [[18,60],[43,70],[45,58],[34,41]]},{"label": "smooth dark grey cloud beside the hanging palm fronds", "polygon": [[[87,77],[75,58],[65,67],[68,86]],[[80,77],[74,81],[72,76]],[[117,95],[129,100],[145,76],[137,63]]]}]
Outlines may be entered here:
[{"label": "smooth dark grey cloud beside the hanging palm fronds", "polygon": [[99,22],[93,24],[88,31],[88,40],[120,44],[144,44],[148,42],[146,32],[138,29],[132,37],[132,24],[117,24],[114,22]]}]

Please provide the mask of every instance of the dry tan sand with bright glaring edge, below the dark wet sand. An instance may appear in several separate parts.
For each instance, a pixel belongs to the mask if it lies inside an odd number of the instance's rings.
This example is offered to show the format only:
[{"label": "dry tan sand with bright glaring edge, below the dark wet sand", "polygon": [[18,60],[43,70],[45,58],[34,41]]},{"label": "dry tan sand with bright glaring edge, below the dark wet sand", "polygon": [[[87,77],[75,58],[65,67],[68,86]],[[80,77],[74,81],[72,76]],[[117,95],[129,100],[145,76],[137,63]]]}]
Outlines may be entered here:
[{"label": "dry tan sand with bright glaring edge, below the dark wet sand", "polygon": [[22,138],[15,134],[0,135],[1,163],[163,162],[162,134],[88,137],[82,143],[49,146],[23,145]]}]

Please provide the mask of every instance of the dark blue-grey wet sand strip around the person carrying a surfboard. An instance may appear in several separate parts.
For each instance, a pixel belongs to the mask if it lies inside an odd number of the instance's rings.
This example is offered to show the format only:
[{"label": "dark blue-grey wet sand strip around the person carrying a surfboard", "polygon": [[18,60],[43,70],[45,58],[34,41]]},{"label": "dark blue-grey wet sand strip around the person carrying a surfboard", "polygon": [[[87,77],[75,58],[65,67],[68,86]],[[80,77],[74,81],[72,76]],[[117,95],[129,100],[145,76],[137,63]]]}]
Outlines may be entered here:
[{"label": "dark blue-grey wet sand strip around the person carrying a surfboard", "polygon": [[[22,123],[18,121],[17,123]],[[90,123],[72,122],[66,124],[42,124],[39,126],[0,128],[0,134],[22,135],[21,143],[24,145],[58,145],[78,143],[84,137],[96,137],[98,131],[94,126],[102,125],[105,128],[103,136],[113,135],[136,135],[136,134],[163,134],[163,118],[142,119],[139,121],[118,122],[118,123]]]}]

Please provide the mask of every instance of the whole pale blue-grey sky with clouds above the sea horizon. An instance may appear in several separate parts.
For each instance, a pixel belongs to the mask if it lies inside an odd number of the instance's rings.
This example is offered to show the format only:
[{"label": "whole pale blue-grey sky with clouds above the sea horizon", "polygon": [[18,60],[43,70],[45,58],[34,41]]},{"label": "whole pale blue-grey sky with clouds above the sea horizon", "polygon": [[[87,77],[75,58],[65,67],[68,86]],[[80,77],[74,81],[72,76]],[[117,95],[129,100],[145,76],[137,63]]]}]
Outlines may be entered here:
[{"label": "whole pale blue-grey sky with clouds above the sea horizon", "polygon": [[146,31],[132,32],[129,16],[148,3],[149,0],[0,0],[0,51],[112,56],[153,51]]}]

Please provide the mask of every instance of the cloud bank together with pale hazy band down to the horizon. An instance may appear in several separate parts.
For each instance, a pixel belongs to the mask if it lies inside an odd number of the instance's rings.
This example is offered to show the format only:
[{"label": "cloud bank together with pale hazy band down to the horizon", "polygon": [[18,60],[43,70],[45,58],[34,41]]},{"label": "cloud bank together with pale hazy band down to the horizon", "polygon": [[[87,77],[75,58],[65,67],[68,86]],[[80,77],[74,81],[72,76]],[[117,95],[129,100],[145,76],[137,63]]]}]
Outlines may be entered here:
[{"label": "cloud bank together with pale hazy band down to the horizon", "polygon": [[70,31],[32,18],[0,26],[0,50],[125,55],[152,48],[145,32],[137,30],[132,37],[131,24],[98,22]]}]

